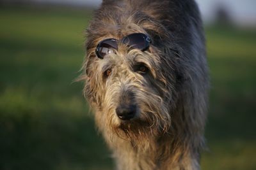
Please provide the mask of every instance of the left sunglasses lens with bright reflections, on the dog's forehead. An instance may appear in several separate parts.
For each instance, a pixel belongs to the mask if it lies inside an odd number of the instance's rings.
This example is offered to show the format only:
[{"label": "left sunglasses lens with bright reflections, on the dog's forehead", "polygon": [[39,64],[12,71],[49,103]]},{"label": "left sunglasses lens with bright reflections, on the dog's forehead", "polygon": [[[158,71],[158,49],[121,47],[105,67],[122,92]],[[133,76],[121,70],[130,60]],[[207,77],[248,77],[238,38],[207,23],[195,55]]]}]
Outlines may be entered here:
[{"label": "left sunglasses lens with bright reflections, on the dog's forehead", "polygon": [[106,39],[99,43],[96,48],[96,54],[100,59],[103,59],[105,55],[115,53],[117,48],[116,39]]}]

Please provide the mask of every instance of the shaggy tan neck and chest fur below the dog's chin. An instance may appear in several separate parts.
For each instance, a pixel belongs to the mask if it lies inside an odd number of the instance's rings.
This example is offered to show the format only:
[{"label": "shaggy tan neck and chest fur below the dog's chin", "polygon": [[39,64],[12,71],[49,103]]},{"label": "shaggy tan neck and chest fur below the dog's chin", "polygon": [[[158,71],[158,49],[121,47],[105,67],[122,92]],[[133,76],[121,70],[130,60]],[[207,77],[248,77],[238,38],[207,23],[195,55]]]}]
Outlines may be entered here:
[{"label": "shaggy tan neck and chest fur below the dog's chin", "polygon": [[197,160],[191,160],[189,150],[180,150],[180,147],[177,147],[177,150],[176,146],[170,143],[168,135],[162,136],[161,140],[150,139],[139,144],[118,137],[115,143],[112,142],[109,145],[115,151],[113,154],[116,158],[116,169],[198,169]]}]

